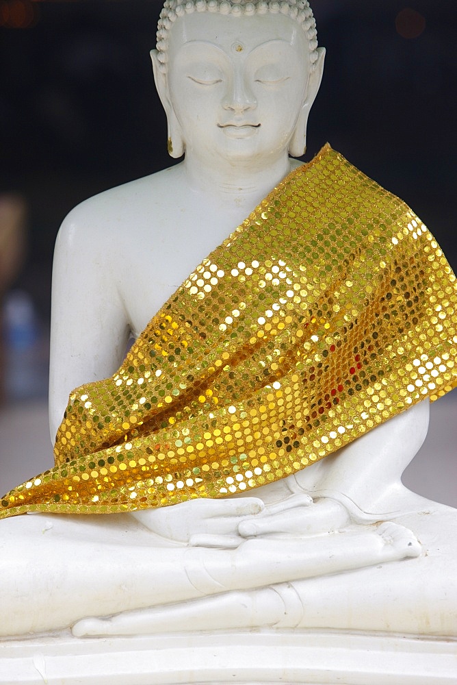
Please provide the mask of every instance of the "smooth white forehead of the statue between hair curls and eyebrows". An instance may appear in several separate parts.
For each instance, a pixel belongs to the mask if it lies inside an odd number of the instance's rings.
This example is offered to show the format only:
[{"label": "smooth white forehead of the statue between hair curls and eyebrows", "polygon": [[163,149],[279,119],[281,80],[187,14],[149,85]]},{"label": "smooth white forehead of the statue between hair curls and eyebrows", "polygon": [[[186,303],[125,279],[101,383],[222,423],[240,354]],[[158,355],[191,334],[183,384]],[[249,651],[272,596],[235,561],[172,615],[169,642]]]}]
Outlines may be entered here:
[{"label": "smooth white forehead of the statue between hair curls and eyebrows", "polygon": [[300,56],[309,51],[302,27],[289,16],[238,17],[219,12],[194,12],[179,17],[170,29],[168,51],[177,55],[183,48],[187,52],[213,46],[227,55],[242,58],[262,45],[267,48],[270,43],[272,49],[283,48]]}]

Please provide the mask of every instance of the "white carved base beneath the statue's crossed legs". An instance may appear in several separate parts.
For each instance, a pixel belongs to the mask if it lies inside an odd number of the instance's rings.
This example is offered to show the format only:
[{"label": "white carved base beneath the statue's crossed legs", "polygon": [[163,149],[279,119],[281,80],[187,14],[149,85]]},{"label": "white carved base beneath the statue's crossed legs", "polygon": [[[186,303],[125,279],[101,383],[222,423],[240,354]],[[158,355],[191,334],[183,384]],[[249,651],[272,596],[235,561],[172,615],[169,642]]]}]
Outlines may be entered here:
[{"label": "white carved base beneath the statue's crossed legs", "polygon": [[0,643],[0,685],[454,685],[456,638],[215,632]]}]

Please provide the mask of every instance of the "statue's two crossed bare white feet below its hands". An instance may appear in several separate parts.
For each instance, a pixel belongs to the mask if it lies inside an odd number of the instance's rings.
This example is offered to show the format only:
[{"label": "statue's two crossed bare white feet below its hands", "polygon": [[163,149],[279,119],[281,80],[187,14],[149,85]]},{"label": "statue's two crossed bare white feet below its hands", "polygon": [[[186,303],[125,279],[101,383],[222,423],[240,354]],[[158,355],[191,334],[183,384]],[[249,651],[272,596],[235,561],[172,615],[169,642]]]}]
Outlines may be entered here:
[{"label": "statue's two crossed bare white feet below its hands", "polygon": [[[396,523],[292,540],[246,540],[236,550],[188,547],[187,577],[201,599],[73,625],[75,636],[131,635],[255,626],[294,627],[304,609],[289,582],[417,557],[421,546]],[[243,590],[242,588],[252,588]]]}]

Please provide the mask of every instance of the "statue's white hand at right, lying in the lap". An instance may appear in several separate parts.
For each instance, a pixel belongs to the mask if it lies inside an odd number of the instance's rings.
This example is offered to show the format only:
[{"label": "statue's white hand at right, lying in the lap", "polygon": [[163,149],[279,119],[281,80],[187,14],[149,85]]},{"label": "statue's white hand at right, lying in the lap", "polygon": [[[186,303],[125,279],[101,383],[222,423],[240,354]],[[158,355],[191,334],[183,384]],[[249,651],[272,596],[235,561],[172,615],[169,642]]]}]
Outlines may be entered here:
[{"label": "statue's white hand at right, lying in the lap", "polygon": [[332,499],[315,502],[307,495],[291,495],[284,501],[265,507],[262,514],[249,521],[241,521],[238,533],[244,538],[260,535],[304,538],[341,530],[350,523],[348,510]]}]

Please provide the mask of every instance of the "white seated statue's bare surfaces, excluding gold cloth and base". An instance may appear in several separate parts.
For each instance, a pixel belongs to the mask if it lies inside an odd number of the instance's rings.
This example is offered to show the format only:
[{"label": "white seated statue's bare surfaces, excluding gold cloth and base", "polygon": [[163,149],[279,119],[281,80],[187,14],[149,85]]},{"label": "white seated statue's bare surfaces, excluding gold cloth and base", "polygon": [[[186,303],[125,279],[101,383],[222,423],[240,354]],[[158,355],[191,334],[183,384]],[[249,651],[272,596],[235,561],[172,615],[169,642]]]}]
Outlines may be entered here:
[{"label": "white seated statue's bare surfaces, excluding gold cloth and base", "polygon": [[[184,160],[83,202],[57,238],[51,436],[70,390],[114,373],[129,336],[300,164],[289,154],[303,153],[324,68],[307,6],[187,5],[151,53],[169,149]],[[457,514],[401,482],[428,414],[423,401],[241,499],[1,521],[0,634],[456,636]]]}]

